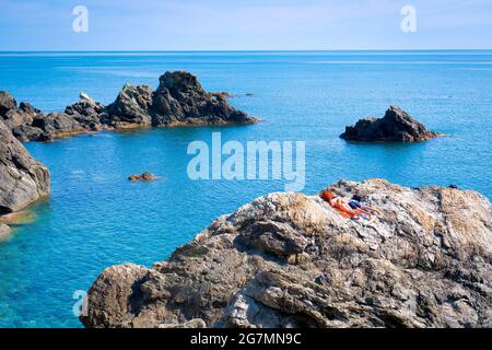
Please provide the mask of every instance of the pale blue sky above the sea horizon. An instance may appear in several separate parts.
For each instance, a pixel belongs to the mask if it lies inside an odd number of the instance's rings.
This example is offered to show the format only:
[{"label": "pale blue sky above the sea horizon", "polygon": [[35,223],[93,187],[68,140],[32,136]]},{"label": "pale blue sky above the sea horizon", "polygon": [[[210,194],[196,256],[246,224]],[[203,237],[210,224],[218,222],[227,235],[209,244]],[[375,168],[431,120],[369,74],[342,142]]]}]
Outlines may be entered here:
[{"label": "pale blue sky above the sea horizon", "polygon": [[[72,31],[75,5],[89,32]],[[403,5],[417,33],[400,30]],[[0,0],[0,50],[492,49],[492,0]]]}]

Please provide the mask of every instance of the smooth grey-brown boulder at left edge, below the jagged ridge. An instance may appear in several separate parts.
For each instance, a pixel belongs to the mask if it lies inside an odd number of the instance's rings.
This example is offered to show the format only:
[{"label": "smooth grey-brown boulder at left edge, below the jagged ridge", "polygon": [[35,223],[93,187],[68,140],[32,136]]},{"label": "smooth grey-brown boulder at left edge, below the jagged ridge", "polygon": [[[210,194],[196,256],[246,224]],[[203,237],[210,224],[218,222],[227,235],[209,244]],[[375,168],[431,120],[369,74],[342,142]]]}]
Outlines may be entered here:
[{"label": "smooth grey-brown boulder at left edge, below the jagged ridge", "polygon": [[49,172],[0,121],[0,214],[17,211],[49,194]]}]

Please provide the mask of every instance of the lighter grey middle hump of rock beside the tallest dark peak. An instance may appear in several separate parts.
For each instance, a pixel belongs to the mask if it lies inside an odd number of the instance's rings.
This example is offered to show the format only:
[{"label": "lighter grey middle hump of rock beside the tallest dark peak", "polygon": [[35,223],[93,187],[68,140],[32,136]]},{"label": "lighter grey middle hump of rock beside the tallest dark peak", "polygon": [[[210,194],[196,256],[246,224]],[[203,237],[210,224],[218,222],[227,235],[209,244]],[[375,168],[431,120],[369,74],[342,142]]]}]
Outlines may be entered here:
[{"label": "lighter grey middle hump of rock beside the tallest dark peak", "polygon": [[151,104],[152,89],[149,85],[125,84],[116,101],[106,107],[108,118],[103,122],[117,129],[150,126]]}]

